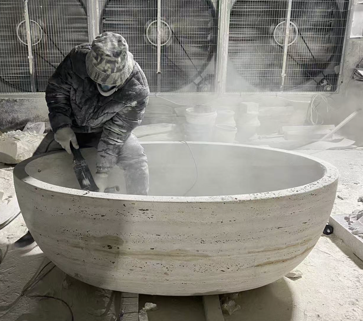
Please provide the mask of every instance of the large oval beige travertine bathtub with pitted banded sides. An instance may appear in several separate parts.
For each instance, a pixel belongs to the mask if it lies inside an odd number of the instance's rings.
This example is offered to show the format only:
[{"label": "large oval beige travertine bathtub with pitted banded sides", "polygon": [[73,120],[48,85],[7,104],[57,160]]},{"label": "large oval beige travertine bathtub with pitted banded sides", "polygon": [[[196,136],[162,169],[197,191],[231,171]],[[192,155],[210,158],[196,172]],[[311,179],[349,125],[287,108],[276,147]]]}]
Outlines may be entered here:
[{"label": "large oval beige travertine bathtub with pitted banded sides", "polygon": [[[150,195],[77,190],[72,157],[14,170],[34,239],[64,272],[101,288],[159,295],[237,292],[274,282],[318,241],[338,172],[309,156],[237,144],[150,142]],[[83,149],[90,168],[96,150]]]}]

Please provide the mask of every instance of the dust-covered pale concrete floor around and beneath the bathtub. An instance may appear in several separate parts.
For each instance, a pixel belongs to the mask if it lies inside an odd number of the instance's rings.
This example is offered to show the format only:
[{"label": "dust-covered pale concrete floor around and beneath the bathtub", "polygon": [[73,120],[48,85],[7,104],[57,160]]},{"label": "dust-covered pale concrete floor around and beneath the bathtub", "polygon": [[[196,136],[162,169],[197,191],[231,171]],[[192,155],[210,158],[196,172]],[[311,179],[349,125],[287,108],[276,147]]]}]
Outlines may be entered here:
[{"label": "dust-covered pale concrete floor around and beneath the bathtub", "polygon": [[[332,215],[362,209],[356,200],[363,194],[363,152],[314,153],[340,171],[338,194],[344,200],[337,198]],[[37,246],[28,251],[13,248],[11,244],[25,232],[21,215],[0,230],[1,321],[68,321],[69,308],[76,321],[115,320],[120,308],[119,293],[67,276],[49,263]],[[41,280],[37,282],[36,278],[33,282],[37,283],[24,291],[45,265]],[[297,269],[303,273],[299,279],[284,277],[262,288],[241,292],[236,299],[241,310],[225,316],[225,321],[363,321],[363,262],[341,240],[322,236]],[[53,298],[32,297],[37,295]],[[139,302],[140,307],[145,302],[158,304],[159,310],[148,313],[150,321],[204,321],[200,297],[140,296]]]}]

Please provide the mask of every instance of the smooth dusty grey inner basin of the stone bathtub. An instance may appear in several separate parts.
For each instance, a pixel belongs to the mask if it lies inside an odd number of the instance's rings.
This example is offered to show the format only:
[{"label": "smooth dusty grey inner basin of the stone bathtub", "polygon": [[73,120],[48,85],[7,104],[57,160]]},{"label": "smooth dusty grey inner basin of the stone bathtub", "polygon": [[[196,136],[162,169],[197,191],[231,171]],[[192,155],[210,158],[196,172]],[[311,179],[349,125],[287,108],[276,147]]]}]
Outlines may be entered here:
[{"label": "smooth dusty grey inner basin of the stone bathtub", "polygon": [[[144,143],[154,196],[218,196],[271,192],[317,181],[325,173],[319,162],[278,150],[228,144]],[[189,149],[190,148],[190,149]],[[92,173],[96,149],[82,149]],[[79,189],[72,157],[65,152],[35,159],[26,166],[29,176]],[[109,175],[109,186],[125,194],[123,171]]]}]

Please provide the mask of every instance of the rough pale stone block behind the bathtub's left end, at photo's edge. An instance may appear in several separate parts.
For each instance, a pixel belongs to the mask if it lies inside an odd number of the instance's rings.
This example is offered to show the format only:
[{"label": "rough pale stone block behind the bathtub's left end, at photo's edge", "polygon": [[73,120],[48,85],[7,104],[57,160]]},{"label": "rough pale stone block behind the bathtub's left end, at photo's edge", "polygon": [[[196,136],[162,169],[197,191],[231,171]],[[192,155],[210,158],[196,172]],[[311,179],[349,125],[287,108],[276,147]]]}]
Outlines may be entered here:
[{"label": "rough pale stone block behind the bathtub's left end, at photo's edge", "polygon": [[45,135],[12,131],[0,136],[0,162],[18,164],[32,157]]}]

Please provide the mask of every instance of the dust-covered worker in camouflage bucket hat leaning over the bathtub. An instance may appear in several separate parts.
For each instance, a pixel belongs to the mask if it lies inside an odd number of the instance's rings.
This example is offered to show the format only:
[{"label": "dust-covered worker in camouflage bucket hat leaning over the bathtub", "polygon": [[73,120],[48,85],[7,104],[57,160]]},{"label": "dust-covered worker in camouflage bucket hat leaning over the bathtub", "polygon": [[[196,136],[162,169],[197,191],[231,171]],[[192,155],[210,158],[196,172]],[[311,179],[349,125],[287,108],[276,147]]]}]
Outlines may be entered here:
[{"label": "dust-covered worker in camouflage bucket hat leaning over the bathtub", "polygon": [[[92,44],[78,45],[64,58],[48,81],[45,99],[49,132],[34,155],[74,148],[97,148],[94,181],[103,192],[108,173],[124,170],[128,194],[147,195],[147,158],[132,130],[140,125],[148,103],[149,87],[126,40],[105,32]],[[33,241],[30,233],[17,241]]]}]

